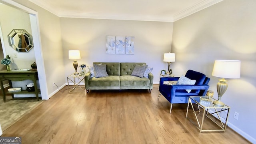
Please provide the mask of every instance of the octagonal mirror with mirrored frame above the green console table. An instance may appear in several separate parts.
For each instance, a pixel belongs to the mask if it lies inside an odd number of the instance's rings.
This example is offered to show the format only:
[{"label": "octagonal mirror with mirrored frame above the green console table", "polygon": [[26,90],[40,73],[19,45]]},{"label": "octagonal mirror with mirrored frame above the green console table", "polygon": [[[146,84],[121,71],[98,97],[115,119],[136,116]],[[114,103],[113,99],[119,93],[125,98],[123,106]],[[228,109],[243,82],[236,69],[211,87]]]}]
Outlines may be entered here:
[{"label": "octagonal mirror with mirrored frame above the green console table", "polygon": [[8,41],[17,52],[29,52],[34,47],[32,35],[24,29],[13,29],[8,34]]}]

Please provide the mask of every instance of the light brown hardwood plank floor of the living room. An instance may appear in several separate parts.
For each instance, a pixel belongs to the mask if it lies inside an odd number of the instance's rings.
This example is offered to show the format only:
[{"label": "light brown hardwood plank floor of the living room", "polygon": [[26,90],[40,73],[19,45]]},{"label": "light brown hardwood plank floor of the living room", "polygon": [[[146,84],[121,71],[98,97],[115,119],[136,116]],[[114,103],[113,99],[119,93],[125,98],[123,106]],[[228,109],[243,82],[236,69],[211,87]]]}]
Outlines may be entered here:
[{"label": "light brown hardwood plank floor of the living room", "polygon": [[[65,87],[64,89],[66,89]],[[63,90],[63,89],[62,89]],[[58,92],[3,132],[22,144],[246,144],[230,128],[204,132],[186,118],[186,104],[148,90]]]}]

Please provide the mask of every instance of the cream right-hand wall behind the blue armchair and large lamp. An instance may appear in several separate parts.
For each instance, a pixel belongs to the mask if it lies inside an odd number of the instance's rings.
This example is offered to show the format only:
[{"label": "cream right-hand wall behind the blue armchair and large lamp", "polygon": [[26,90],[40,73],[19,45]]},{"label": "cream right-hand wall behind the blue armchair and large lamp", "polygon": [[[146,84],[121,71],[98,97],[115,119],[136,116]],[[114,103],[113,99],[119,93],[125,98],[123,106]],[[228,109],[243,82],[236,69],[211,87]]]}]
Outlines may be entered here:
[{"label": "cream right-hand wall behind the blue armchair and large lamp", "polygon": [[[174,22],[173,69],[179,74],[192,69],[210,77],[217,98],[212,68],[216,59],[241,60],[241,78],[227,79],[222,101],[231,106],[228,126],[256,143],[256,1],[224,0]],[[234,112],[239,113],[238,120]]]}]

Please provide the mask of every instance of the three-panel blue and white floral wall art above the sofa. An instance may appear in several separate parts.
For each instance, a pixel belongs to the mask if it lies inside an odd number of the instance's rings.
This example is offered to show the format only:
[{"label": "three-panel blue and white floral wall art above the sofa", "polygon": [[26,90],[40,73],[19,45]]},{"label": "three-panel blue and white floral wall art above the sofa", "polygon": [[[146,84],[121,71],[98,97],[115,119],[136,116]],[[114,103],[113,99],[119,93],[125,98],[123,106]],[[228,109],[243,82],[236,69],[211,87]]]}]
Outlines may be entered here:
[{"label": "three-panel blue and white floral wall art above the sofa", "polygon": [[134,54],[134,36],[106,36],[106,54]]}]

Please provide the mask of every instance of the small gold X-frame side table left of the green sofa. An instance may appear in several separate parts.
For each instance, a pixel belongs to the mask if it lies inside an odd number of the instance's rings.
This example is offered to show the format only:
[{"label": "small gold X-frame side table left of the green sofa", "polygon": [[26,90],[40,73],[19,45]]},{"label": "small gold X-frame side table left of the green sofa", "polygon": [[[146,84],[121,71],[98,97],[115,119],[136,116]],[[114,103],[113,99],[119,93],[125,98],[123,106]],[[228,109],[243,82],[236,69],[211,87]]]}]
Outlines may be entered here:
[{"label": "small gold X-frame side table left of the green sofa", "polygon": [[[78,74],[71,74],[68,77],[68,93],[78,93],[82,92],[86,94],[86,88],[85,88],[85,81],[84,81],[84,74],[79,76]],[[74,83],[74,87],[70,87],[69,82]],[[84,86],[81,85],[81,83],[84,82]],[[72,92],[74,89],[79,88],[80,91]]]}]

